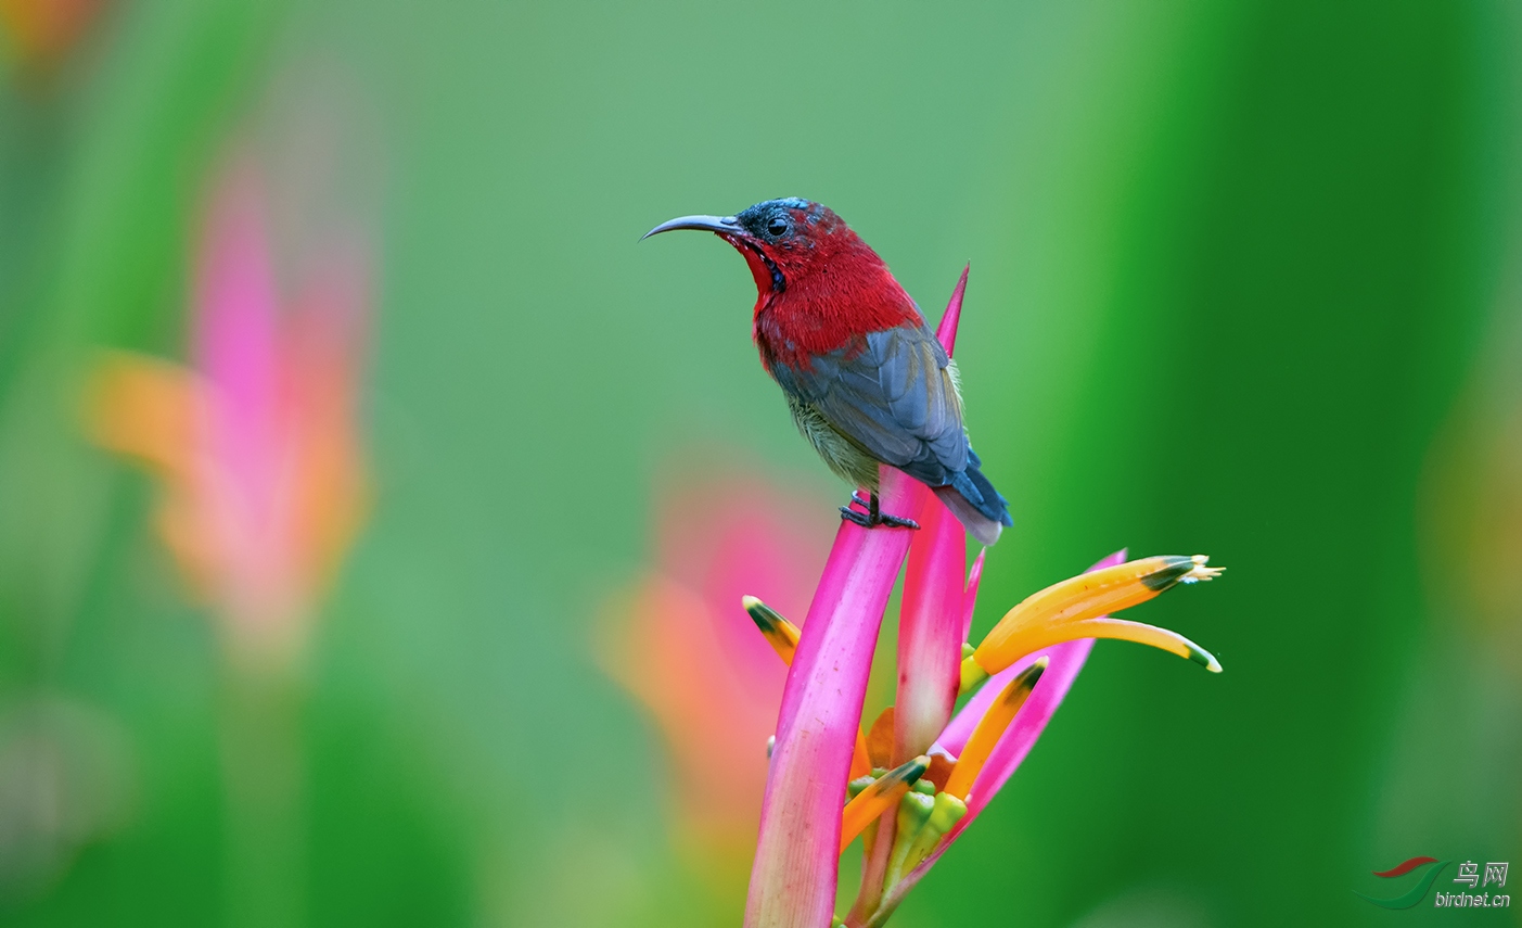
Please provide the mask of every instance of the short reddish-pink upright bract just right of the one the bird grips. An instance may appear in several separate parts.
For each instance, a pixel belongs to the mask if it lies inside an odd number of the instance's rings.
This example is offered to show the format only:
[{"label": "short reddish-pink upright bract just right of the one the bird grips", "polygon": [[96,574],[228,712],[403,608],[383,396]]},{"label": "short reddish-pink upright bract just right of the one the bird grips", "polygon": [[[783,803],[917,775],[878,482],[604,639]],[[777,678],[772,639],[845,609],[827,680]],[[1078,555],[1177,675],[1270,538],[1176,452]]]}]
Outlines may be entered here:
[{"label": "short reddish-pink upright bract just right of the one the bird grips", "polygon": [[935,498],[919,510],[898,616],[893,763],[925,753],[951,719],[962,678],[966,530]]}]

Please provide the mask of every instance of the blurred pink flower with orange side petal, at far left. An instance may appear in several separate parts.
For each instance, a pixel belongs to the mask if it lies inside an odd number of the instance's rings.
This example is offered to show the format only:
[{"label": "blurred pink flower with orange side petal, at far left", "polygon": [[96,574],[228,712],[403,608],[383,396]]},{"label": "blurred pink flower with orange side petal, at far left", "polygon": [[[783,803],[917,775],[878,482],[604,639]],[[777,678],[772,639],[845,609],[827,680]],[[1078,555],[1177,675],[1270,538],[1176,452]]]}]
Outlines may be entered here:
[{"label": "blurred pink flower with orange side petal, at far left", "polygon": [[87,413],[97,443],[158,478],[155,529],[231,651],[283,660],[365,510],[355,407],[367,296],[349,239],[304,256],[282,294],[265,215],[259,169],[236,162],[201,229],[192,366],[113,352]]}]

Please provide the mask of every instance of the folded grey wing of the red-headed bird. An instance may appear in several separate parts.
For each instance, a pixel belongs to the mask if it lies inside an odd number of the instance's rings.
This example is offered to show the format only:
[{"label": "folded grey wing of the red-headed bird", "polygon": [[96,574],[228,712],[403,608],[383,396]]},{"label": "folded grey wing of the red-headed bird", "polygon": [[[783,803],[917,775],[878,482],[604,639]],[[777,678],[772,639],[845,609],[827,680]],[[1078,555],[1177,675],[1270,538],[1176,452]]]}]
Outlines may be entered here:
[{"label": "folded grey wing of the red-headed bird", "polygon": [[872,457],[941,486],[968,465],[950,363],[921,323],[871,332],[816,357],[810,370],[778,366],[773,376]]}]

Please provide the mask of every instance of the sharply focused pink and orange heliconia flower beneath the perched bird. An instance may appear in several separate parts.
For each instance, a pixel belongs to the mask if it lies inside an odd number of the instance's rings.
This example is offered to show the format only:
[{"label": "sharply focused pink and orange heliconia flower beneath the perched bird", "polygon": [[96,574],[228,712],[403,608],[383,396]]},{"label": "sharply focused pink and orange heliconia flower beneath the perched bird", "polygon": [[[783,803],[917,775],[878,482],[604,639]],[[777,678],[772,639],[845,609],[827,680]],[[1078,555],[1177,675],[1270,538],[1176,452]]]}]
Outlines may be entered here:
[{"label": "sharply focused pink and orange heliconia flower beneath the perched bird", "polygon": [[[938,337],[950,352],[966,273]],[[1009,780],[1062,702],[1093,640],[1120,638],[1221,666],[1183,635],[1111,619],[1219,568],[1204,556],[1125,561],[1018,603],[966,645],[983,556],[966,570],[966,536],[925,488],[883,468],[881,506],[918,514],[919,532],[842,521],[801,629],[758,620],[790,658],[761,809],[746,905],[747,928],[883,925]],[[877,634],[898,568],[909,556],[900,610],[898,693],[864,738],[861,704]],[[753,599],[746,602],[755,616]],[[764,606],[763,606],[764,608]],[[781,629],[781,631],[778,631]],[[781,645],[779,645],[781,642]],[[796,645],[794,645],[796,642]],[[959,693],[982,686],[953,716]],[[861,888],[834,916],[839,855],[863,838]]]}]

